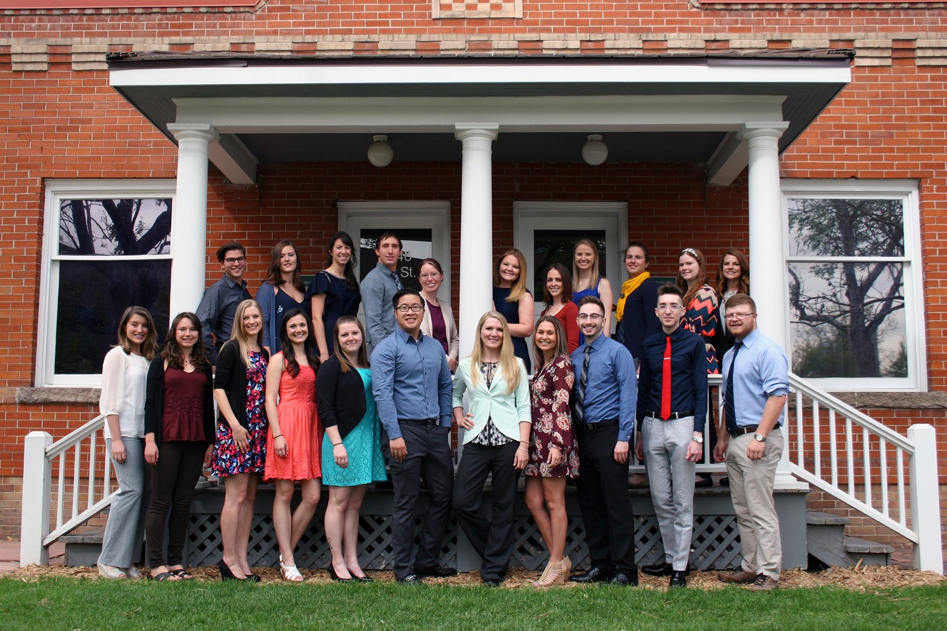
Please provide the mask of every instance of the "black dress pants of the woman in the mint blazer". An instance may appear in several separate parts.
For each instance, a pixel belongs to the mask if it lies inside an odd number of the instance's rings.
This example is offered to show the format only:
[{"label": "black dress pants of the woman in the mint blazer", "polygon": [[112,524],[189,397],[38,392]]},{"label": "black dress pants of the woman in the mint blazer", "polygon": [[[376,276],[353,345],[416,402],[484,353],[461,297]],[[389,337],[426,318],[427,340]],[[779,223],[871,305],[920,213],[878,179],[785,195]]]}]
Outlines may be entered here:
[{"label": "black dress pants of the woman in the mint blazer", "polygon": [[[502,581],[513,552],[513,504],[519,469],[513,468],[513,457],[520,447],[518,441],[486,447],[476,443],[464,446],[464,456],[457,465],[454,482],[454,513],[457,524],[480,555],[480,577]],[[483,486],[492,475],[492,506],[490,519],[481,508]]]}]

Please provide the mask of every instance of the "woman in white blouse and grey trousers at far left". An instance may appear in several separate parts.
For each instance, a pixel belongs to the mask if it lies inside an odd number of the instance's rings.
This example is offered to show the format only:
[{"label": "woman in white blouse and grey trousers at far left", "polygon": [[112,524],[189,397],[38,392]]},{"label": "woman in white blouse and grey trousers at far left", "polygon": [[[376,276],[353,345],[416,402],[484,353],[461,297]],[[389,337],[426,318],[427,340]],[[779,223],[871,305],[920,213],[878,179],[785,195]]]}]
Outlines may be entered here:
[{"label": "woman in white blouse and grey trousers at far left", "polygon": [[98,555],[98,573],[106,578],[138,578],[134,559],[144,538],[143,501],[150,486],[145,466],[145,377],[154,359],[157,334],[152,314],[128,307],[118,324],[118,343],[102,362],[98,409],[105,417],[105,448],[112,454],[118,493]]}]

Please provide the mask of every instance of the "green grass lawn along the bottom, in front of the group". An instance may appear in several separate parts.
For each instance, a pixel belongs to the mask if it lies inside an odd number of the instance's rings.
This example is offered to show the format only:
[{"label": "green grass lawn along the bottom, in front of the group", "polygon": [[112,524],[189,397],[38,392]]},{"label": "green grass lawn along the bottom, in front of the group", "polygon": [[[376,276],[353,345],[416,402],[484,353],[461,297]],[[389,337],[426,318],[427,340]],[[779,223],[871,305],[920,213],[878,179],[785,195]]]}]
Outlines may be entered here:
[{"label": "green grass lawn along the bottom, in front of the group", "polygon": [[0,579],[0,629],[947,628],[947,587],[751,593],[648,588],[145,583]]}]

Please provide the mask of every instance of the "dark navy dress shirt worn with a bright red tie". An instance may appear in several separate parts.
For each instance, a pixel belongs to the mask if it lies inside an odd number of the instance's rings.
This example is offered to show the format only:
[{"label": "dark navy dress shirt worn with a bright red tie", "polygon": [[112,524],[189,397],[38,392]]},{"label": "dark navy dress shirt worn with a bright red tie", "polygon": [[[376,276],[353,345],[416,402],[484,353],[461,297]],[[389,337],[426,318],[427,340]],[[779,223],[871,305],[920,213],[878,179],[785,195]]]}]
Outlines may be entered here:
[{"label": "dark navy dress shirt worn with a bright red tie", "polygon": [[[664,347],[668,334],[663,330],[642,343],[641,373],[638,383],[637,418],[647,412],[661,412],[664,387]],[[704,338],[678,326],[670,334],[670,412],[694,411],[694,431],[704,431],[707,408],[707,355]]]}]

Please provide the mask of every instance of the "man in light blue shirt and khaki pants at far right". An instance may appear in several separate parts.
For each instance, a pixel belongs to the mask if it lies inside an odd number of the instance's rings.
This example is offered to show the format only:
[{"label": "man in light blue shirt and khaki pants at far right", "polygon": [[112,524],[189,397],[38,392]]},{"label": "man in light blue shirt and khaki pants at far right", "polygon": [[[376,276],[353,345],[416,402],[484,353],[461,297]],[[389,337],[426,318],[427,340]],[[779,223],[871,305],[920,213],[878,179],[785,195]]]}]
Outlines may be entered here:
[{"label": "man in light blue shirt and khaki pants at far right", "polygon": [[789,361],[757,330],[757,305],[746,294],[726,301],[726,325],[737,342],[724,355],[724,413],[714,458],[726,463],[730,477],[743,561],[740,571],[718,576],[769,591],[779,587],[782,565],[773,485],[782,456]]}]

